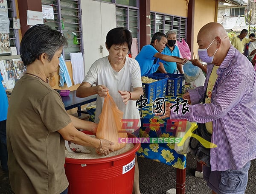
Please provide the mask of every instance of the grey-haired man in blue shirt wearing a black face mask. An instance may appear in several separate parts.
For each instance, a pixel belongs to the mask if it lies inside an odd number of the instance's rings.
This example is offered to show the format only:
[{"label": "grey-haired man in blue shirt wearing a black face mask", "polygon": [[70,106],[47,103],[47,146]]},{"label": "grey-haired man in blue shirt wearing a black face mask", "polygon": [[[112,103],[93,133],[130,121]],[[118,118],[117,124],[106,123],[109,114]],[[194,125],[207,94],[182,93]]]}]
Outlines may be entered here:
[{"label": "grey-haired man in blue shirt wearing a black face mask", "polygon": [[[166,43],[166,48],[164,48],[163,52],[165,52],[166,54],[168,54],[170,56],[180,57],[179,48],[175,45],[176,39],[177,39],[176,32],[175,31],[168,31],[166,33],[166,37],[167,37],[167,43]],[[163,64],[163,66],[164,66],[167,73],[176,73],[177,70],[179,70],[179,72],[181,74],[183,74],[182,65],[180,63],[165,62]]]}]

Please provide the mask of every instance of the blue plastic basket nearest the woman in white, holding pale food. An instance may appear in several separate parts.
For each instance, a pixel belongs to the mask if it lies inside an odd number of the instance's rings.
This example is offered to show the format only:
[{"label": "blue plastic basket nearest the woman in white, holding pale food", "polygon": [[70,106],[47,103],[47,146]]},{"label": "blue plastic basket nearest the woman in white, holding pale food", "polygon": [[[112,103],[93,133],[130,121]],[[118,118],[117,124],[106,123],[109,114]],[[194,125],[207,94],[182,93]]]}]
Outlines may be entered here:
[{"label": "blue plastic basket nearest the woman in white, holding pale food", "polygon": [[162,78],[157,76],[148,76],[148,78],[157,79],[157,82],[150,84],[143,83],[144,98],[148,99],[148,104],[153,102],[156,98],[166,96],[166,86],[168,78]]}]

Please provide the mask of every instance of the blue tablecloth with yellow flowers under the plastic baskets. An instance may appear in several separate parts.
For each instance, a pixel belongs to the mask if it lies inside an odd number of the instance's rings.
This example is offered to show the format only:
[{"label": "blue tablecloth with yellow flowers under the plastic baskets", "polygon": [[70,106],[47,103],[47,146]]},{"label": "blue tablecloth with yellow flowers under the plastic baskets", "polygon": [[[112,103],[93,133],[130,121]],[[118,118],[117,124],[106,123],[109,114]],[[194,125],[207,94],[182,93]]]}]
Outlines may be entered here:
[{"label": "blue tablecloth with yellow flowers under the plastic baskets", "polygon": [[[181,96],[177,96],[181,99]],[[176,97],[166,96],[166,102],[175,103]],[[141,127],[139,137],[144,138],[174,138],[173,133],[166,131],[167,119],[159,119],[152,113],[152,105],[147,104],[142,109]],[[87,106],[89,120],[94,121],[96,104]],[[168,128],[167,128],[168,129]],[[177,154],[174,143],[141,143],[137,156],[145,157],[157,162],[165,163],[178,169],[186,168],[186,155]]]}]

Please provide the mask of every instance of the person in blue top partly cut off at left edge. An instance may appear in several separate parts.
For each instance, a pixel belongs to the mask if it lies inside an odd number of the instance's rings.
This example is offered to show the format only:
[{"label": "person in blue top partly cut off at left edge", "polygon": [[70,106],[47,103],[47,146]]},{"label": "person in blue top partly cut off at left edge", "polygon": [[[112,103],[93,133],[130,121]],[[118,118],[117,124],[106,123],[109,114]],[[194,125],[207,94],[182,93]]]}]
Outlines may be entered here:
[{"label": "person in blue top partly cut off at left edge", "polygon": [[8,109],[8,99],[3,88],[3,77],[0,73],[0,161],[3,171],[7,172],[7,147],[6,147],[6,118]]}]

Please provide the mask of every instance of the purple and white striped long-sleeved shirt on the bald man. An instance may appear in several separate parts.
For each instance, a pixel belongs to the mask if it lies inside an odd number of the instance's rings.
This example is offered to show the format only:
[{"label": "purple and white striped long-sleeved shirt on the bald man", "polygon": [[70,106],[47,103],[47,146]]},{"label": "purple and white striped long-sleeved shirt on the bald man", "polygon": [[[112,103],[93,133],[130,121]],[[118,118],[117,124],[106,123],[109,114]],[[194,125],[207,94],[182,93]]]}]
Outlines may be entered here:
[{"label": "purple and white striped long-sleeved shirt on the bald man", "polygon": [[[208,83],[214,64],[207,65]],[[232,45],[217,70],[210,104],[203,101],[207,85],[188,90],[192,105],[189,112],[171,110],[170,119],[198,123],[212,121],[212,171],[241,169],[256,158],[256,73],[250,61]]]}]

